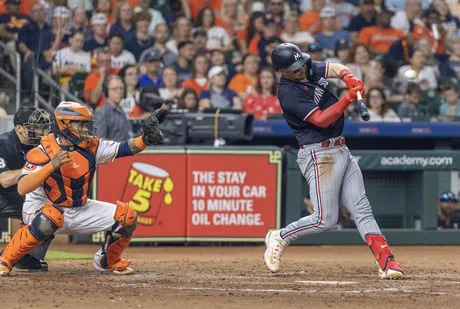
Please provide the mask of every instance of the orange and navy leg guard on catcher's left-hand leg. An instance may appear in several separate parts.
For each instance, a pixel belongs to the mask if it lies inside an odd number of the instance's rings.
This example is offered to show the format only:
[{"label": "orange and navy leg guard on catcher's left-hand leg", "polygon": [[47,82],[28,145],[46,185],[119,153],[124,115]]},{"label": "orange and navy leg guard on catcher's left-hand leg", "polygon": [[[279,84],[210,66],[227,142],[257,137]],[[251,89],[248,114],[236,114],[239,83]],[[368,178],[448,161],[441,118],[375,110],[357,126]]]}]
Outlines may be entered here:
[{"label": "orange and navy leg guard on catcher's left-hand leg", "polygon": [[53,236],[63,225],[62,212],[51,204],[46,204],[30,225],[23,226],[14,234],[3,251],[0,262],[11,270],[20,258],[38,247],[42,241]]}]

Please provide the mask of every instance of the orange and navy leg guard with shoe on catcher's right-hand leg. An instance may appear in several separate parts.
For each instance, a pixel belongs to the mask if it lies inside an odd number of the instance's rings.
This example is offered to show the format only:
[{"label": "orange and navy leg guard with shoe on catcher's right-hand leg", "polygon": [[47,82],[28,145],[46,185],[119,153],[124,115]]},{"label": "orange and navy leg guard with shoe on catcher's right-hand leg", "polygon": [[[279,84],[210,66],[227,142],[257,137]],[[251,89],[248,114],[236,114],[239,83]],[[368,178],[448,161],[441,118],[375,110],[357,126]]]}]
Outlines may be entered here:
[{"label": "orange and navy leg guard with shoe on catcher's right-hand leg", "polygon": [[137,213],[128,203],[118,201],[114,219],[112,229],[105,234],[105,242],[101,250],[96,253],[94,267],[116,273],[124,271],[126,272],[123,274],[133,273],[134,271],[128,267],[130,262],[122,260],[121,255],[136,229]]}]

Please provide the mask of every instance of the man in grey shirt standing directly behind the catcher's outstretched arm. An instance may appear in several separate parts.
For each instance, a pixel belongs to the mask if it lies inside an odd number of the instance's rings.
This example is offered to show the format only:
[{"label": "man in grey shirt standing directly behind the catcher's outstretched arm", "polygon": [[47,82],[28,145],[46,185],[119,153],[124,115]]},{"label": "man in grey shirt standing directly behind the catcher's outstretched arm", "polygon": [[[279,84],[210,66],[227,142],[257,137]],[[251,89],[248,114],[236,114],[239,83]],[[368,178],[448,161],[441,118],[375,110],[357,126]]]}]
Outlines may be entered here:
[{"label": "man in grey shirt standing directly behind the catcher's outstretched arm", "polygon": [[[107,55],[108,56],[108,55]],[[107,62],[110,59],[107,57]],[[131,138],[132,126],[120,104],[123,100],[125,85],[120,76],[110,76],[104,84],[106,100],[96,111],[96,135],[106,140],[122,142]]]}]

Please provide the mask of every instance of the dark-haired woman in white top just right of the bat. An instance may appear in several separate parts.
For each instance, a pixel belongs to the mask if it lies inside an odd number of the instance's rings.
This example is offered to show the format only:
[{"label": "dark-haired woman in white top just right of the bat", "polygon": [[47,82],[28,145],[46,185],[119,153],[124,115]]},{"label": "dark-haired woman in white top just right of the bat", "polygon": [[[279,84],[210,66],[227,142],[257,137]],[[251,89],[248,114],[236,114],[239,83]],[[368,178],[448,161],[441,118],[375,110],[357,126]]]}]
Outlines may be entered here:
[{"label": "dark-haired woman in white top just right of the bat", "polygon": [[373,122],[401,122],[396,112],[388,107],[385,94],[380,88],[370,88],[366,92],[366,106]]}]

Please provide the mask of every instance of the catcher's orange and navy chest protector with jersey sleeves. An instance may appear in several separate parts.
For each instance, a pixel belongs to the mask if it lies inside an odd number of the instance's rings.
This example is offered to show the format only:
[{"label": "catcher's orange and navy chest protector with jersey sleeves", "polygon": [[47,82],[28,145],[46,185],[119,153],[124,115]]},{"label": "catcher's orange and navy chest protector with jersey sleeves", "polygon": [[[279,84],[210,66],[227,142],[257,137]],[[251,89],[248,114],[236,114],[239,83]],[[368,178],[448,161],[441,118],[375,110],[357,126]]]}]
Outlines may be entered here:
[{"label": "catcher's orange and navy chest protector with jersey sleeves", "polygon": [[[40,179],[41,186],[27,191],[33,191],[32,194],[38,199],[47,198],[62,207],[83,206],[88,201],[96,164],[115,160],[118,146],[119,143],[94,137],[86,149],[73,147],[68,152],[72,162],[62,165],[58,170],[51,168],[49,176]],[[51,160],[61,150],[54,134],[43,137],[41,145],[27,153],[27,162],[19,182],[36,182],[36,178],[42,176],[42,169],[49,169]],[[25,187],[27,184],[21,183],[20,186]]]}]

